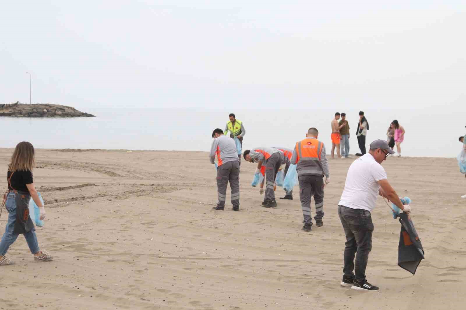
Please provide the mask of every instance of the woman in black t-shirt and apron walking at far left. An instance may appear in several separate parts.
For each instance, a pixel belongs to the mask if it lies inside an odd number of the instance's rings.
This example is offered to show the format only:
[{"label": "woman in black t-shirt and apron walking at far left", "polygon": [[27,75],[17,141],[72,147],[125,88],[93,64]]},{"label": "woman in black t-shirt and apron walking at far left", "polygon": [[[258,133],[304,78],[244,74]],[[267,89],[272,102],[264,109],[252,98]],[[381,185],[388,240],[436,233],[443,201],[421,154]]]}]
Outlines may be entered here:
[{"label": "woman in black t-shirt and apron walking at far left", "polygon": [[27,206],[32,198],[39,206],[41,220],[45,219],[45,209],[42,205],[32,178],[35,165],[34,147],[29,142],[20,142],[14,149],[11,163],[8,166],[8,190],[5,193],[5,207],[8,211],[8,222],[0,242],[0,266],[13,263],[5,254],[19,234],[26,238],[27,245],[34,254],[34,261],[48,262],[53,256],[47,251],[41,251],[35,236],[34,224],[29,217]]}]

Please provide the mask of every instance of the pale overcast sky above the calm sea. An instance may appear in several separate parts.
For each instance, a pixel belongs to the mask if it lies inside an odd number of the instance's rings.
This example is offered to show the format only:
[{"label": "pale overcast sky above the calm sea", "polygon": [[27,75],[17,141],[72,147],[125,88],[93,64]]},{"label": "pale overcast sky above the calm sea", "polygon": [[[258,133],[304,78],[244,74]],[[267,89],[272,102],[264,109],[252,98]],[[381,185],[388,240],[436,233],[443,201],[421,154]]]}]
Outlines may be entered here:
[{"label": "pale overcast sky above the calm sea", "polygon": [[466,110],[466,1],[4,1],[0,103]]}]

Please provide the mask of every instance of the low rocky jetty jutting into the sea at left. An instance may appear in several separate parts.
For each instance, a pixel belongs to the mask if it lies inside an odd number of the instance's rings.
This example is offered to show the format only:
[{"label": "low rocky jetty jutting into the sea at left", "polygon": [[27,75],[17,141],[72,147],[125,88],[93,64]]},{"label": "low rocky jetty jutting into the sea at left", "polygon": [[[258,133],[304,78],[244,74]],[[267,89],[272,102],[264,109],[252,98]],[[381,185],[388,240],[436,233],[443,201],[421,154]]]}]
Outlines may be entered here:
[{"label": "low rocky jetty jutting into the sea at left", "polygon": [[94,117],[89,113],[83,113],[72,107],[58,104],[37,103],[0,104],[0,116],[17,117]]}]

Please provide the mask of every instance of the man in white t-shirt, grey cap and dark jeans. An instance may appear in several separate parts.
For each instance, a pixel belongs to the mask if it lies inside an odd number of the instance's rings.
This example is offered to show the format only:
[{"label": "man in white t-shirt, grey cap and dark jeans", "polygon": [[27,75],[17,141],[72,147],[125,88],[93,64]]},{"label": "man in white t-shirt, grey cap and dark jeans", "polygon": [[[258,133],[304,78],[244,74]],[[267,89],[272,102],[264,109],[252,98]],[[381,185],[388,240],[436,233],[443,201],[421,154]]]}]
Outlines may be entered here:
[{"label": "man in white t-shirt, grey cap and dark jeans", "polygon": [[384,196],[404,212],[411,212],[411,207],[403,205],[391,187],[381,165],[388,154],[393,153],[395,152],[386,141],[376,140],[370,143],[368,154],[356,159],[349,166],[343,194],[338,203],[338,216],[346,236],[344,276],[340,283],[343,287],[355,290],[379,289],[368,283],[365,275],[374,230],[370,212],[376,205],[377,195]]}]

